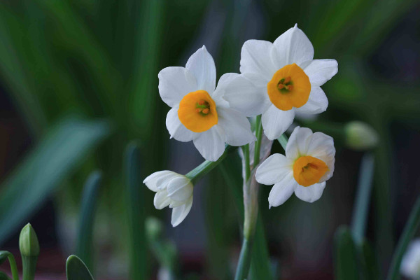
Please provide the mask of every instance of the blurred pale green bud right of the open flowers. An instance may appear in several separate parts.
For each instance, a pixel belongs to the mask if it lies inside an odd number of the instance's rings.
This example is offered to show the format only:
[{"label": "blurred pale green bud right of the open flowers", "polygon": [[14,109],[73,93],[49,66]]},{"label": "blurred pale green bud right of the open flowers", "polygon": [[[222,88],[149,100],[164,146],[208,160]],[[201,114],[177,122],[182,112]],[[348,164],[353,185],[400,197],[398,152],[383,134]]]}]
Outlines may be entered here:
[{"label": "blurred pale green bud right of the open flowers", "polygon": [[367,123],[353,121],[344,126],[346,146],[357,151],[365,151],[377,146],[379,136]]}]

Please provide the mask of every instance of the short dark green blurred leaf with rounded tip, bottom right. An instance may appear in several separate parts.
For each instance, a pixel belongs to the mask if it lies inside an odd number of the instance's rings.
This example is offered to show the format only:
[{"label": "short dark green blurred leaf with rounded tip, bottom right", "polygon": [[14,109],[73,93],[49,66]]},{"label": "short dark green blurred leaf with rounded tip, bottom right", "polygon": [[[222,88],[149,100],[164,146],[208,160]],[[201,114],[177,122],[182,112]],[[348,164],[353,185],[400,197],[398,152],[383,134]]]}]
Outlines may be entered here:
[{"label": "short dark green blurred leaf with rounded tip, bottom right", "polygon": [[358,255],[349,228],[341,226],[335,232],[335,279],[358,280]]}]

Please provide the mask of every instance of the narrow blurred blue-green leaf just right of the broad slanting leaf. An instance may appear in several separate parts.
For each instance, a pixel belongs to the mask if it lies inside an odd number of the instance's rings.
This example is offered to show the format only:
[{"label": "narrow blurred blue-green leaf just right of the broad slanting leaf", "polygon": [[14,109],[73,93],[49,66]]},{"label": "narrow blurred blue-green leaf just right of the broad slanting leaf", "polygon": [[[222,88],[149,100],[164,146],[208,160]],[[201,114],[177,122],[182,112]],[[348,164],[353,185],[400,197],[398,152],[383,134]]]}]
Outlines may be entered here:
[{"label": "narrow blurred blue-green leaf just right of the broad slanting leaf", "polygon": [[76,253],[80,259],[84,260],[85,265],[92,269],[92,242],[93,242],[93,224],[94,212],[96,210],[99,187],[102,182],[102,173],[92,172],[83,188],[82,204],[80,207],[78,239]]}]

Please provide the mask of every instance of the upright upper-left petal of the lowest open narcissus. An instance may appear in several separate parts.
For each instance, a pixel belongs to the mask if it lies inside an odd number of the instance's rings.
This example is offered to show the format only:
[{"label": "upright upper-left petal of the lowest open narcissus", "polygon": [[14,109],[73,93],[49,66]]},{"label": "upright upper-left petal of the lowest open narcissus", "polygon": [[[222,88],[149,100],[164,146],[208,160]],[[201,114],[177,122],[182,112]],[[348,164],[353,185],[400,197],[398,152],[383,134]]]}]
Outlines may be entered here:
[{"label": "upright upper-left petal of the lowest open narcissus", "polygon": [[308,144],[311,140],[312,130],[307,127],[295,127],[286,146],[286,157],[297,160],[301,155],[307,155]]}]

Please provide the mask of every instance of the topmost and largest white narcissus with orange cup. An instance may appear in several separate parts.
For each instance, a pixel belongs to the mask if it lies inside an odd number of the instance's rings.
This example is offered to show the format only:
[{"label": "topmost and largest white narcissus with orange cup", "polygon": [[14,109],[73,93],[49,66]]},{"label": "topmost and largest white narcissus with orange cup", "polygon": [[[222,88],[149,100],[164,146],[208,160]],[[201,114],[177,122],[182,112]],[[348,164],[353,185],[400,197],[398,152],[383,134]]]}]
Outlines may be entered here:
[{"label": "topmost and largest white narcissus with orange cup", "polygon": [[225,99],[248,117],[262,114],[274,140],[293,123],[295,112],[322,113],[328,99],[321,89],[338,71],[334,59],[313,59],[314,47],[302,30],[288,29],[274,43],[248,40],[241,50],[241,74],[232,74]]}]

